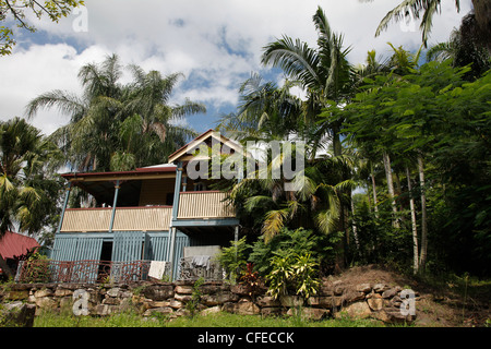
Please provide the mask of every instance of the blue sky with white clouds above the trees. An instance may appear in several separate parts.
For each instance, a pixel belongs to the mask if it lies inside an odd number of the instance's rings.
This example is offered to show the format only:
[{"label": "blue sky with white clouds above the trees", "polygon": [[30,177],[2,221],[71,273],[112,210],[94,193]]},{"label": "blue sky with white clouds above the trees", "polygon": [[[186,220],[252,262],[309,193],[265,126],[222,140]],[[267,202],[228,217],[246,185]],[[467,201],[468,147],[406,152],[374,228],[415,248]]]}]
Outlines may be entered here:
[{"label": "blue sky with white clouds above the trees", "polygon": [[[137,64],[164,75],[182,73],[171,104],[185,98],[205,104],[206,113],[180,121],[204,132],[236,110],[239,86],[251,73],[278,84],[284,81],[280,70],[261,64],[264,46],[283,35],[316,46],[312,15],[318,7],[332,29],[344,35],[345,47],[351,47],[352,64],[363,63],[372,49],[388,57],[388,41],[416,51],[421,45],[418,21],[392,23],[374,36],[380,21],[400,1],[85,0],[84,9],[59,23],[27,16],[37,32],[15,29],[13,53],[0,57],[0,120],[25,117],[27,103],[49,91],[81,95],[80,68],[117,53],[123,65]],[[470,0],[460,1],[459,13],[455,1],[442,2],[429,45],[446,41],[471,9]],[[121,82],[130,79],[125,74]],[[69,119],[56,109],[44,109],[29,122],[50,134]]]}]

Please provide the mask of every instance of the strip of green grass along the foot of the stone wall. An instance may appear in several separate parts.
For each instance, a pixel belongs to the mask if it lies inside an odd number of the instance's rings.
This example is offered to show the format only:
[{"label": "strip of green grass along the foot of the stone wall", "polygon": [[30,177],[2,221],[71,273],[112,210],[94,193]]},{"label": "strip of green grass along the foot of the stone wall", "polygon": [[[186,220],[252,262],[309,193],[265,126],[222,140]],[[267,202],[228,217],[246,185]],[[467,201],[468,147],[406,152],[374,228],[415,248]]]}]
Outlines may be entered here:
[{"label": "strip of green grass along the foot of the stone wall", "polygon": [[144,318],[134,312],[110,316],[74,316],[73,314],[41,313],[36,316],[34,327],[383,327],[374,320],[323,320],[309,321],[299,316],[261,317],[260,315],[237,315],[216,313],[181,316],[169,321],[166,316]]}]

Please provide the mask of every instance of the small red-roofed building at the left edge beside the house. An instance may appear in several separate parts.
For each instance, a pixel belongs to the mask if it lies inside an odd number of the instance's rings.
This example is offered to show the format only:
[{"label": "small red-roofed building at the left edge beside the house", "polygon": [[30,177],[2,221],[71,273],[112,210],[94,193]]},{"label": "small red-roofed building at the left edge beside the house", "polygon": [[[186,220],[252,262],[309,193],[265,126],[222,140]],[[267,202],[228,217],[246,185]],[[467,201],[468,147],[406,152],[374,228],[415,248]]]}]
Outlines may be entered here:
[{"label": "small red-roofed building at the left edge beside the house", "polygon": [[[19,261],[28,252],[38,248],[40,245],[36,239],[12,231],[5,231],[3,237],[0,238],[0,258],[3,258],[7,266],[15,273]],[[3,274],[4,270],[0,268],[0,277]]]}]

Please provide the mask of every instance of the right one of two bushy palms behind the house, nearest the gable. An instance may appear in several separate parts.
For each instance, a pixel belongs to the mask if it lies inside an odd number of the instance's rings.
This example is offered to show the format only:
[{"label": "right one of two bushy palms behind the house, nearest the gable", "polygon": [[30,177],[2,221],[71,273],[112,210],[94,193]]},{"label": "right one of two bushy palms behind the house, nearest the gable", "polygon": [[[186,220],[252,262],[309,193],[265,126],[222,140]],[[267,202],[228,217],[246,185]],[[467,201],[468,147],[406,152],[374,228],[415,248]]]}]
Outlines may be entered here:
[{"label": "right one of two bushy palms behind the house, nearest the gable", "polygon": [[131,149],[130,154],[139,158],[137,166],[164,161],[170,153],[196,135],[191,129],[179,125],[178,121],[190,115],[206,112],[206,107],[189,99],[182,105],[168,105],[182,74],[163,76],[157,71],[145,73],[136,65],[130,65],[130,69],[134,81],[127,87],[117,115],[124,120],[119,134],[127,147],[116,155]]}]

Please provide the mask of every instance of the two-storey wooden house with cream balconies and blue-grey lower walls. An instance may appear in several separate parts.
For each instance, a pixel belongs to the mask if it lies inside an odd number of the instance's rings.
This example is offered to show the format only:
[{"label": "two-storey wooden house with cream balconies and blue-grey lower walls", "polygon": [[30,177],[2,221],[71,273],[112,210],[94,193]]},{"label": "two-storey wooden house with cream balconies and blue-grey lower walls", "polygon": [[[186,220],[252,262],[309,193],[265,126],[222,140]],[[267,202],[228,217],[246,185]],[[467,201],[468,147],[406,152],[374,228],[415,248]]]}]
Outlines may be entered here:
[{"label": "two-storey wooden house with cream balconies and blue-grey lower walls", "polygon": [[[238,239],[239,220],[225,201],[227,194],[209,188],[219,179],[190,174],[195,151],[200,146],[209,149],[213,144],[228,154],[241,152],[240,145],[208,130],[171,154],[168,164],[132,171],[61,174],[68,188],[51,251],[60,273],[70,268],[73,275],[73,263],[79,261],[96,261],[88,273],[93,277],[101,270],[100,261],[110,262],[111,274],[115,263],[128,267],[137,261],[159,261],[170,262],[170,277],[177,279],[184,257],[189,262],[205,255],[203,251],[216,251]],[[96,207],[67,208],[75,186],[89,193]]]}]

